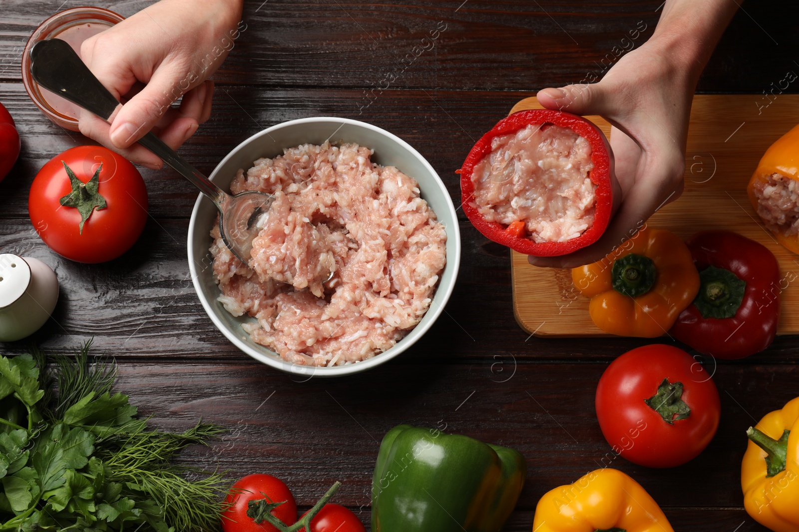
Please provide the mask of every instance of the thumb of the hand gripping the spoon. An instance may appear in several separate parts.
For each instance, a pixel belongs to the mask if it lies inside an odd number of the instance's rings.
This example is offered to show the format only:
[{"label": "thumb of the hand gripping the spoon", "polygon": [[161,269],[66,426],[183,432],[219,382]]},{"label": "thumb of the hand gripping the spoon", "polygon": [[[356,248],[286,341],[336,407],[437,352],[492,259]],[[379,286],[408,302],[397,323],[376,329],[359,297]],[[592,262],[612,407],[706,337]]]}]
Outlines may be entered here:
[{"label": "thumb of the hand gripping the spoon", "polygon": [[128,100],[114,117],[109,130],[114,146],[127,148],[145,136],[184,92],[180,85],[181,81],[169,73],[169,68],[161,65],[145,88]]}]

